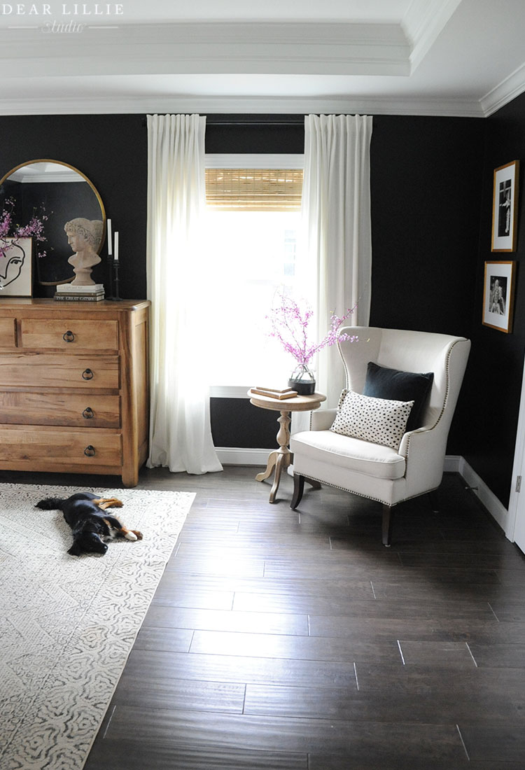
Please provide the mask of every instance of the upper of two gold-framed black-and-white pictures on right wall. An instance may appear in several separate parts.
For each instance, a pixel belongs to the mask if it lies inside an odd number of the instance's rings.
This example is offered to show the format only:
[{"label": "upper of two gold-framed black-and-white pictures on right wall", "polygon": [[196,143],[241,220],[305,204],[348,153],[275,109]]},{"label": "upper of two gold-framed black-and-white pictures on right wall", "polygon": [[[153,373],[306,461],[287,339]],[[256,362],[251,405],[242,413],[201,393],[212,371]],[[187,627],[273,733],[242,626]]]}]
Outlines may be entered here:
[{"label": "upper of two gold-framed black-and-white pictures on right wall", "polygon": [[491,251],[516,251],[520,161],[494,169]]}]

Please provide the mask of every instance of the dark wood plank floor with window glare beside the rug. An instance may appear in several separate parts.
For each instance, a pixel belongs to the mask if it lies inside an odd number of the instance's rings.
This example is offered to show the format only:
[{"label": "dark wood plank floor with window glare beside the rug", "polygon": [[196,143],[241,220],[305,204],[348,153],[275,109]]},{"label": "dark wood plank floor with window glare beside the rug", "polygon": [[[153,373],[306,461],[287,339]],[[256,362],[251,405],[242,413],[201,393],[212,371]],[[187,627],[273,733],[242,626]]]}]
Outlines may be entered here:
[{"label": "dark wood plank floor with window glare beside the rug", "polygon": [[461,478],[386,549],[380,505],[256,470],[142,471],[196,501],[85,770],[523,770],[525,557]]}]

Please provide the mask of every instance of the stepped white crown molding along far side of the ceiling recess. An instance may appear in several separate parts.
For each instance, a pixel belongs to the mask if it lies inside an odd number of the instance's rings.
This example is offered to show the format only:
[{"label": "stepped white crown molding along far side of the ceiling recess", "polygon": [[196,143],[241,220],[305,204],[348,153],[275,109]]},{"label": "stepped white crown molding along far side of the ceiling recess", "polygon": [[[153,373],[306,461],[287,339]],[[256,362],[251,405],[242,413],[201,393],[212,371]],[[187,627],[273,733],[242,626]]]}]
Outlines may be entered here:
[{"label": "stepped white crown molding along far side of the ceiling recess", "polygon": [[410,75],[399,24],[100,25],[79,34],[2,28],[2,75]]}]

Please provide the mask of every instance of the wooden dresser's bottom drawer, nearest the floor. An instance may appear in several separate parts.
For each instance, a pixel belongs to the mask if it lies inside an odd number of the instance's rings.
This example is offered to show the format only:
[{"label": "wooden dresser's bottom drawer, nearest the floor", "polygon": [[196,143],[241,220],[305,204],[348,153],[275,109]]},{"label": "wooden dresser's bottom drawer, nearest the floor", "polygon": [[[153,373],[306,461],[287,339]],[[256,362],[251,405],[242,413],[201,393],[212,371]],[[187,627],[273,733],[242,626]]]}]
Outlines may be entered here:
[{"label": "wooden dresser's bottom drawer, nearest the floor", "polygon": [[117,467],[122,463],[122,439],[105,430],[41,427],[0,427],[0,462],[10,467],[32,463],[33,470],[56,464],[62,470],[79,467]]}]

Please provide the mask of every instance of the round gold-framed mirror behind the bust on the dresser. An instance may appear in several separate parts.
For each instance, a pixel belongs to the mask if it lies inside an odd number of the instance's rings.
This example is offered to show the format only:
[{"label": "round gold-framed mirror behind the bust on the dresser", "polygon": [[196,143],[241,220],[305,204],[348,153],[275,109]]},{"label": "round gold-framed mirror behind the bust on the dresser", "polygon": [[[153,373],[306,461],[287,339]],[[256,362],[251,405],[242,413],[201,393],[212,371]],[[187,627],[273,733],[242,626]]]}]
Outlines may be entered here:
[{"label": "round gold-framed mirror behind the bust on the dresser", "polygon": [[45,240],[34,249],[36,274],[42,286],[69,283],[75,276],[68,259],[72,247],[65,225],[75,219],[102,222],[97,228],[99,254],[105,241],[105,209],[99,192],[82,171],[59,160],[38,159],[20,163],[0,179],[0,216],[10,210],[12,219],[27,226],[33,217],[42,222]]}]

